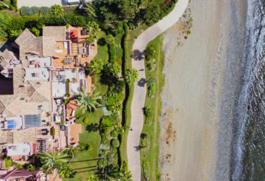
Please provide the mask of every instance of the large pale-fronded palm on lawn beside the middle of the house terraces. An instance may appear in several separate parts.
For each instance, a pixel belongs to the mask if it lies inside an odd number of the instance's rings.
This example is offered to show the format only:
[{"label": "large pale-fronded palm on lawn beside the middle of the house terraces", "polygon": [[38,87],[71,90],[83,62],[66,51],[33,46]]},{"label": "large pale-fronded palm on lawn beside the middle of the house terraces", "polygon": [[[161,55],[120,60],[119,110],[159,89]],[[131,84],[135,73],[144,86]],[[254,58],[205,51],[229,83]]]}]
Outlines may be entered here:
[{"label": "large pale-fronded palm on lawn beside the middle of the house terraces", "polygon": [[80,95],[78,95],[77,99],[75,99],[77,104],[80,105],[79,109],[82,110],[82,113],[85,113],[86,111],[91,112],[92,108],[97,109],[97,107],[101,106],[101,104],[98,103],[97,100],[101,100],[102,97],[98,96],[99,93],[94,94],[95,89],[96,87],[93,87],[92,91],[87,94],[84,91],[84,88],[82,88],[80,91]]}]

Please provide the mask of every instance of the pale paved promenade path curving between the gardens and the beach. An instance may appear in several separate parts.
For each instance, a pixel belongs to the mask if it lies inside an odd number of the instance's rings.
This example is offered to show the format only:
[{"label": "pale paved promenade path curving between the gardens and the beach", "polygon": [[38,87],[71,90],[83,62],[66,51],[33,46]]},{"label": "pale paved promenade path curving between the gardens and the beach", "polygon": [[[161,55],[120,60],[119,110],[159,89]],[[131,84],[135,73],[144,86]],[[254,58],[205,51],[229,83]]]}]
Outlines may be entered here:
[{"label": "pale paved promenade path curving between the gardens and the beach", "polygon": [[144,69],[144,61],[141,61],[140,57],[142,56],[146,45],[151,40],[176,24],[179,18],[183,15],[185,8],[188,6],[188,1],[189,0],[179,0],[171,13],[161,19],[158,23],[153,24],[149,29],[146,29],[146,31],[142,32],[132,46],[132,52],[134,55],[134,58],[132,58],[132,68],[135,68],[139,72],[139,81],[135,83],[131,105],[132,119],[130,128],[132,131],[129,131],[127,141],[128,166],[129,170],[132,172],[132,180],[134,181],[141,180],[139,141],[144,124],[144,114],[142,109],[144,108],[146,97],[146,84],[144,84],[146,79],[145,71],[139,71],[140,69]]}]

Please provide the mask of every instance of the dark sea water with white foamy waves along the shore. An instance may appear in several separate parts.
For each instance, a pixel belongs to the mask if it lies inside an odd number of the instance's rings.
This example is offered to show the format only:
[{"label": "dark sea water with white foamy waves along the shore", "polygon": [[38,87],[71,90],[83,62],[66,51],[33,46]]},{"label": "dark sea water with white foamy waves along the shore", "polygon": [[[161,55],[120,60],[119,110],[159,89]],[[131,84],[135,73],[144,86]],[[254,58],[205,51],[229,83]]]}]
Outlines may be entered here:
[{"label": "dark sea water with white foamy waves along the shore", "polygon": [[243,81],[232,141],[232,180],[265,180],[265,0],[248,0]]}]

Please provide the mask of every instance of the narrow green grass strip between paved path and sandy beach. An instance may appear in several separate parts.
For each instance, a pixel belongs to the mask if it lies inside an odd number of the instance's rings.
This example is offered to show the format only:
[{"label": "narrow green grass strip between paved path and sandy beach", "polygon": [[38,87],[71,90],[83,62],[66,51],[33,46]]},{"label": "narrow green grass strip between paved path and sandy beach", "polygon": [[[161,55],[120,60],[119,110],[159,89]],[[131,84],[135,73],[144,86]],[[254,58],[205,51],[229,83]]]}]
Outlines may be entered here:
[{"label": "narrow green grass strip between paved path and sandy beach", "polygon": [[[151,178],[150,180],[159,180],[160,171],[158,169],[158,155],[159,155],[159,145],[158,145],[158,136],[159,136],[159,116],[161,111],[161,98],[160,93],[162,91],[162,86],[164,85],[164,74],[162,74],[162,68],[164,63],[164,54],[162,52],[162,35],[158,36],[156,39],[152,40],[149,45],[153,45],[157,52],[156,58],[156,70],[149,72],[146,70],[146,79],[153,77],[156,79],[155,90],[156,97],[151,99],[146,94],[145,107],[149,106],[153,110],[153,118],[151,126],[144,125],[143,132],[147,132],[151,138],[151,147],[149,150],[144,151],[140,150],[141,163],[145,159],[150,163]],[[141,165],[142,166],[142,165]]]}]

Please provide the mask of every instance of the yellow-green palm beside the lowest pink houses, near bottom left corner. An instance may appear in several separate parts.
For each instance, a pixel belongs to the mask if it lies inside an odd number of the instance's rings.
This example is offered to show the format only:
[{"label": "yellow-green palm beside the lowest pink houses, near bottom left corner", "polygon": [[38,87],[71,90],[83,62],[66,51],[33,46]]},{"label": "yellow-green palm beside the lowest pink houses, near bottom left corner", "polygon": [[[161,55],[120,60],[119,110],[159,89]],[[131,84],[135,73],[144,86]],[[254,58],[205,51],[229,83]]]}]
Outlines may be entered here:
[{"label": "yellow-green palm beside the lowest pink houses, near bottom left corner", "polygon": [[59,152],[43,152],[43,154],[40,155],[40,162],[42,162],[43,166],[55,168],[59,164],[68,162],[68,159],[66,159],[67,156],[64,150]]}]

